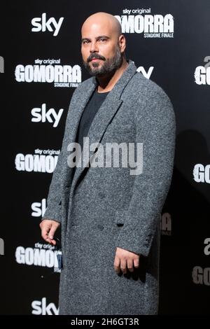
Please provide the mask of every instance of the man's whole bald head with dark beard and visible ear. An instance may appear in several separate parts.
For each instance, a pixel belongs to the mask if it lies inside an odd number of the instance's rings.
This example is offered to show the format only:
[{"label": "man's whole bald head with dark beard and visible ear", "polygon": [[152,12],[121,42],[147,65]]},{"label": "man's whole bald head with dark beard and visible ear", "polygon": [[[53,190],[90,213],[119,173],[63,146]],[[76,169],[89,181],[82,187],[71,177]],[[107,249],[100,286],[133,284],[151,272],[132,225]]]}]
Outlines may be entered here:
[{"label": "man's whole bald head with dark beard and visible ear", "polygon": [[92,75],[113,73],[125,61],[125,36],[120,22],[108,13],[95,13],[83,23],[81,53]]}]

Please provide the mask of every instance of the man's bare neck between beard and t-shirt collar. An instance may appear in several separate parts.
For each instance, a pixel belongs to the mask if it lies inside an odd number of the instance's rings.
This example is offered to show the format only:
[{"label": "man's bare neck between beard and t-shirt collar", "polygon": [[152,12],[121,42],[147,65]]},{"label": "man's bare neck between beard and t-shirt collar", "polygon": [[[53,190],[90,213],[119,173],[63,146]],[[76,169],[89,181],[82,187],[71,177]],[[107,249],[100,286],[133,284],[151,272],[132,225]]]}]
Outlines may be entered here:
[{"label": "man's bare neck between beard and t-shirt collar", "polygon": [[128,63],[126,59],[123,57],[123,64],[109,76],[99,76],[97,77],[98,92],[109,92],[113,89],[114,85],[118,82],[120,77],[123,75],[125,69],[127,69]]}]

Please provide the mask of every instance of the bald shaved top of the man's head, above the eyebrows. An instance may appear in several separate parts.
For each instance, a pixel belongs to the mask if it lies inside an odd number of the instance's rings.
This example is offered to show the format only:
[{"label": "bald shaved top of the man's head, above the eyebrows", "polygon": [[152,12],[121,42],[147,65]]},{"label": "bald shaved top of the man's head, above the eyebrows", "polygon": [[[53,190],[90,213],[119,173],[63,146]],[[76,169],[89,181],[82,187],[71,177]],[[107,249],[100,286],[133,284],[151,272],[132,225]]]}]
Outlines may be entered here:
[{"label": "bald shaved top of the man's head, above the eyebrows", "polygon": [[113,15],[103,12],[94,13],[85,20],[81,29],[82,34],[85,29],[97,27],[98,25],[102,28],[104,27],[106,31],[110,31],[111,34],[116,34],[117,37],[122,34],[120,22]]}]

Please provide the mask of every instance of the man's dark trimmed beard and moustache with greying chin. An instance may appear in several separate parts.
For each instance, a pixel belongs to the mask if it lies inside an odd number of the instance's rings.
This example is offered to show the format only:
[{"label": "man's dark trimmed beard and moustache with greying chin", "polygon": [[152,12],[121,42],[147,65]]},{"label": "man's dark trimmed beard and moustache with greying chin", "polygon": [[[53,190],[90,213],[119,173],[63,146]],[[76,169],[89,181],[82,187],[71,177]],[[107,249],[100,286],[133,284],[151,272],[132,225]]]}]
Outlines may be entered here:
[{"label": "man's dark trimmed beard and moustache with greying chin", "polygon": [[[102,66],[99,67],[99,63],[93,62],[92,63],[93,67],[91,67],[89,62],[91,61],[92,58],[102,59],[104,61],[104,64],[102,64]],[[123,62],[123,55],[120,52],[120,48],[118,46],[116,50],[116,54],[112,58],[106,59],[104,56],[98,55],[96,52],[96,53],[92,53],[87,58],[86,62],[83,61],[83,64],[85,66],[85,69],[87,69],[88,73],[90,73],[91,76],[104,76],[113,71],[116,71],[116,69],[118,69],[122,65],[122,62]]]}]

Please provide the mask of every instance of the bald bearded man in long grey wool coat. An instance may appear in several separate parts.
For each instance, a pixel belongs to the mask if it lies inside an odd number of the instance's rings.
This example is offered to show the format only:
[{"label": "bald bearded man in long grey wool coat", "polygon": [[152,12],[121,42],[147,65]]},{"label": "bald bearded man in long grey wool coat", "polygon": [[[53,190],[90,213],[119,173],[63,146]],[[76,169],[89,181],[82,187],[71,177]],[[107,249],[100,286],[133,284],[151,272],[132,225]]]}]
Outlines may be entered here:
[{"label": "bald bearded man in long grey wool coat", "polygon": [[[173,170],[174,111],[165,92],[126,60],[114,16],[91,15],[81,34],[92,78],[71,98],[41,222],[43,239],[54,245],[62,227],[59,314],[157,314],[160,212]],[[78,157],[71,151],[83,137],[95,147],[80,166],[87,145]],[[110,143],[134,144],[141,158],[137,154],[132,164],[140,170],[131,174],[130,163],[91,166],[99,150],[100,159],[109,160],[102,148]]]}]

